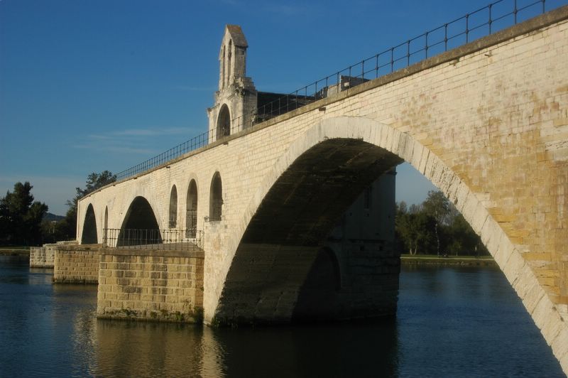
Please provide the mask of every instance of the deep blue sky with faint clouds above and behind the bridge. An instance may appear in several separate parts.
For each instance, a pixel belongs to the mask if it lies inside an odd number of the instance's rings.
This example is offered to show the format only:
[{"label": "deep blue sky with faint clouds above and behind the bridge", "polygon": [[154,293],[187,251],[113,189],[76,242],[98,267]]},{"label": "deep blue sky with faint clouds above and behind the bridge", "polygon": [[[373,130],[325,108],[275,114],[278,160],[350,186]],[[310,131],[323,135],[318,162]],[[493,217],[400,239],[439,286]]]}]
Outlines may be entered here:
[{"label": "deep blue sky with faint clouds above and behind the bridge", "polygon": [[[488,2],[0,0],[0,195],[28,180],[63,215],[89,173],[207,131],[226,23],[256,88],[291,92]],[[421,202],[432,186],[411,171],[397,200]]]}]

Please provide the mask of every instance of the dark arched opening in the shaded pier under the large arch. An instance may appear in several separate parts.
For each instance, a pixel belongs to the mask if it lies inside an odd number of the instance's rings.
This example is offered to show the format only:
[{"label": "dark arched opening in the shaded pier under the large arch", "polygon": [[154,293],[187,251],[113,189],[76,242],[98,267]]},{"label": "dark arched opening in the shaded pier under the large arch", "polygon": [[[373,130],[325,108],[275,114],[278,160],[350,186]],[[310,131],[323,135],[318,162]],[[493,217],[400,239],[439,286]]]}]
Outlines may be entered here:
[{"label": "dark arched opening in the shaded pier under the large arch", "polygon": [[293,320],[337,318],[337,301],[342,287],[339,261],[332,249],[317,252],[310,272],[298,293]]}]

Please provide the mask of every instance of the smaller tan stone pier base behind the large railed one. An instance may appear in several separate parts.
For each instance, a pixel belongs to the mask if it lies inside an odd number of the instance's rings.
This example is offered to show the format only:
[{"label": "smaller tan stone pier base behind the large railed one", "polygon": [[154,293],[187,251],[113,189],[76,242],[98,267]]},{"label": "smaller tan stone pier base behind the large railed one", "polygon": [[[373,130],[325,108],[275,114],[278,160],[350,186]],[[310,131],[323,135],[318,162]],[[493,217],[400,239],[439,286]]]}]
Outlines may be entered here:
[{"label": "smaller tan stone pier base behind the large railed one", "polygon": [[58,284],[97,284],[101,244],[58,246],[54,248],[53,282]]}]

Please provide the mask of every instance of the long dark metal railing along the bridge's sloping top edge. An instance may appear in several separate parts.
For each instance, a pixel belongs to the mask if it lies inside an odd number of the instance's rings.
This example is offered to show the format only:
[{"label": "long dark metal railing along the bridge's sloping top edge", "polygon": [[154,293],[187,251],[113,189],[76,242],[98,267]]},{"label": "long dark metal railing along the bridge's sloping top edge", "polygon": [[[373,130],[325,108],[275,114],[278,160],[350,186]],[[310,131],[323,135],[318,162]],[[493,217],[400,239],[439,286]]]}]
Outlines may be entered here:
[{"label": "long dark metal railing along the bridge's sloping top edge", "polygon": [[[496,33],[509,26],[516,25],[528,18],[546,11],[546,0],[498,0],[483,8],[444,23],[426,33],[383,50],[381,53],[363,59],[349,67],[334,72],[332,75],[305,85],[288,95],[283,95],[254,112],[231,119],[231,132],[246,129],[267,119],[277,117],[298,109],[331,93],[346,89],[344,85],[354,87],[367,80],[387,75],[402,68],[425,60],[447,50],[474,41],[475,39]],[[345,77],[356,80],[344,80]],[[217,139],[217,131],[209,130],[194,138],[170,148],[158,156],[118,173],[117,179],[123,180],[151,168],[160,166],[173,158],[193,151]]]}]

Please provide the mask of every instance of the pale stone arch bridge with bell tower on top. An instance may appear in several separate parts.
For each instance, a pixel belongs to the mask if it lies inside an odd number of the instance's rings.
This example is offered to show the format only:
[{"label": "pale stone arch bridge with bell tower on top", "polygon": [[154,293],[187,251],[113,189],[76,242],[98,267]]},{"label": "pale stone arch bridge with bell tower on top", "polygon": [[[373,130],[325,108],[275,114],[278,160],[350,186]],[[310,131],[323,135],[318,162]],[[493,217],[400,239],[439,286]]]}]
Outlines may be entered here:
[{"label": "pale stone arch bridge with bell tower on top", "polygon": [[[226,30],[228,68],[220,55],[209,109],[218,140],[80,200],[77,238],[204,230],[205,323],[288,321],[305,302],[302,285],[318,277],[333,287],[333,305],[318,306],[337,318],[368,315],[359,306],[371,298],[360,293],[366,283],[373,298],[390,298],[373,300],[373,311],[391,311],[399,263],[385,173],[407,161],[481,236],[568,372],[568,6],[226,136],[219,127],[248,106],[226,92],[250,84],[240,33]],[[379,178],[387,185],[373,184]],[[336,227],[371,184],[383,190],[384,245]]]}]

